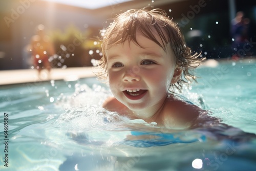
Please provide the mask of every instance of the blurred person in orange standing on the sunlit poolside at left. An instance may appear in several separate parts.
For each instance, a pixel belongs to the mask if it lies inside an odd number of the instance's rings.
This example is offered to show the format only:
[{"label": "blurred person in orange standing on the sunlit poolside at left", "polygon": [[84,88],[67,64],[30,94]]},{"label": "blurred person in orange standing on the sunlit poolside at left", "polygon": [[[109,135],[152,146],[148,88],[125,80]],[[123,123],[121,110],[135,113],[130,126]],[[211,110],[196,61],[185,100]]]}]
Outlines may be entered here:
[{"label": "blurred person in orange standing on the sunlit poolside at left", "polygon": [[48,70],[48,78],[50,79],[51,63],[49,57],[55,54],[54,46],[50,38],[45,34],[45,26],[38,25],[36,27],[36,35],[32,36],[29,45],[33,66],[38,71],[38,77],[41,78],[41,70]]}]

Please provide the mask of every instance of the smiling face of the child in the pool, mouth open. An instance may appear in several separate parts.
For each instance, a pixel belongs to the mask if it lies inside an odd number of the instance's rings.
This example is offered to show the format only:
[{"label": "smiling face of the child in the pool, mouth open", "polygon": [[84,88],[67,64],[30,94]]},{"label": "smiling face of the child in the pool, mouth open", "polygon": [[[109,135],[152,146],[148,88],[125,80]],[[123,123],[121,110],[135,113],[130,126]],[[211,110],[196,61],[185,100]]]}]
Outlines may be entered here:
[{"label": "smiling face of the child in the pool, mouth open", "polygon": [[166,98],[169,84],[177,82],[173,50],[165,52],[154,41],[136,34],[133,41],[106,51],[110,89],[130,110],[157,109]]}]

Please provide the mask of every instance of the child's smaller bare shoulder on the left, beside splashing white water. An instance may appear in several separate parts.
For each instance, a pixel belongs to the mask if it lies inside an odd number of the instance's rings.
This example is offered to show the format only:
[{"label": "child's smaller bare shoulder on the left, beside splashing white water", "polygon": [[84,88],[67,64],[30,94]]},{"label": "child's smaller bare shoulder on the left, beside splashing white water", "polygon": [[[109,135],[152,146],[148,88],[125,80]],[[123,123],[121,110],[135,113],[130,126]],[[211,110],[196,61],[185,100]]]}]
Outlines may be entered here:
[{"label": "child's smaller bare shoulder on the left, beside splashing white water", "polygon": [[102,107],[111,112],[122,113],[126,109],[126,106],[119,102],[115,97],[109,97],[104,101]]}]

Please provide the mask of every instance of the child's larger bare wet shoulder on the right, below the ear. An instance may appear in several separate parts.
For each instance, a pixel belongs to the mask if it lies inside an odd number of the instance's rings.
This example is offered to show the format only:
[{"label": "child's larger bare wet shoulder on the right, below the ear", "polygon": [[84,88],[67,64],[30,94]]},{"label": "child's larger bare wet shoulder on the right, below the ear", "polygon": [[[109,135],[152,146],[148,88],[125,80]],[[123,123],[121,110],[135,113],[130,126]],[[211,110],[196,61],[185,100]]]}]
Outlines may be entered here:
[{"label": "child's larger bare wet shoulder on the right, below the ear", "polygon": [[197,105],[170,97],[164,106],[165,124],[169,126],[173,124],[181,128],[189,127],[203,111]]}]

